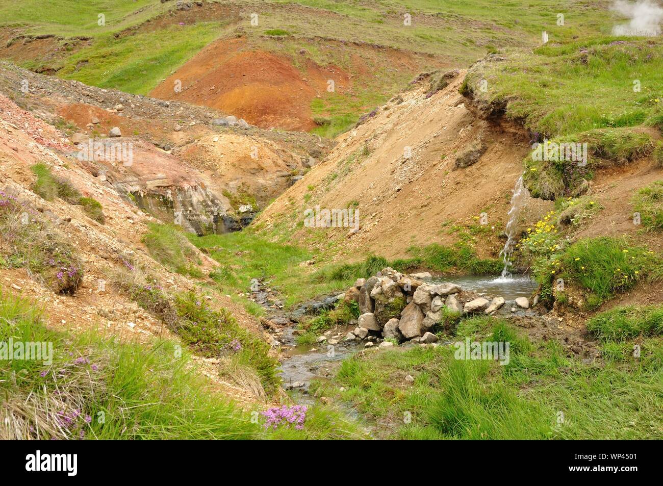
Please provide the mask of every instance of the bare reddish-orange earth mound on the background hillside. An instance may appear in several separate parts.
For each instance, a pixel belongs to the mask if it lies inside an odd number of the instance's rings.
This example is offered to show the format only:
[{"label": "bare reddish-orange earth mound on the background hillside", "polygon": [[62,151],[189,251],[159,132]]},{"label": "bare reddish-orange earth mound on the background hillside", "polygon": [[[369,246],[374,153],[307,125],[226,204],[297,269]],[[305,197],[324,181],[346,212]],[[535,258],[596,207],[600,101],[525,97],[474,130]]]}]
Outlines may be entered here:
[{"label": "bare reddish-orange earth mound on the background hillside", "polygon": [[[173,90],[176,80],[182,92]],[[232,113],[262,128],[308,131],[316,125],[311,100],[326,91],[327,81],[344,93],[349,75],[337,66],[306,61],[302,74],[279,54],[247,48],[245,38],[212,42],[152,90],[162,99],[177,99]]]}]

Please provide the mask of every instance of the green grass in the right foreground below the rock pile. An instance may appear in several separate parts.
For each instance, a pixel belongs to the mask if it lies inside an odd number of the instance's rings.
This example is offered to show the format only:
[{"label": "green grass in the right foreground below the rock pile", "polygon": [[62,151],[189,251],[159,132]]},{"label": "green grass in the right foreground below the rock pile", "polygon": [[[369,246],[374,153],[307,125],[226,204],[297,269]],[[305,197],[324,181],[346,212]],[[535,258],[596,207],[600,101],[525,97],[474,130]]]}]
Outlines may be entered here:
[{"label": "green grass in the right foreground below the rock pile", "polygon": [[[462,324],[462,323],[461,323]],[[486,339],[509,338],[509,364],[454,359],[455,347],[394,349],[345,359],[322,393],[337,394],[386,427],[379,438],[629,439],[662,431],[660,343],[639,359],[583,364],[554,342],[530,343],[486,318]],[[489,334],[492,332],[492,334]],[[477,337],[477,339],[482,339]],[[515,339],[513,341],[512,339]],[[413,383],[404,380],[414,377]],[[345,391],[341,391],[343,387]]]}]

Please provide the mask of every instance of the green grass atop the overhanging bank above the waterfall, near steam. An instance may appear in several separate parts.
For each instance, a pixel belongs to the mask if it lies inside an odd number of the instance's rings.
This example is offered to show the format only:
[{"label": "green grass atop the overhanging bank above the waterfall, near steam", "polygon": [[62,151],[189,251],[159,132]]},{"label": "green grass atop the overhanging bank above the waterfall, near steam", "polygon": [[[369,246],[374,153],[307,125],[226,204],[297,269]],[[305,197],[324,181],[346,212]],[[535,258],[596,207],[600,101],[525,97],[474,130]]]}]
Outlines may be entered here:
[{"label": "green grass atop the overhanging bank above the waterfall, near steam", "polygon": [[[627,44],[614,44],[626,40]],[[479,63],[467,89],[549,139],[660,119],[663,55],[657,38],[586,37],[507,53],[507,62]],[[477,89],[488,82],[487,93]],[[633,81],[640,82],[634,91]]]}]

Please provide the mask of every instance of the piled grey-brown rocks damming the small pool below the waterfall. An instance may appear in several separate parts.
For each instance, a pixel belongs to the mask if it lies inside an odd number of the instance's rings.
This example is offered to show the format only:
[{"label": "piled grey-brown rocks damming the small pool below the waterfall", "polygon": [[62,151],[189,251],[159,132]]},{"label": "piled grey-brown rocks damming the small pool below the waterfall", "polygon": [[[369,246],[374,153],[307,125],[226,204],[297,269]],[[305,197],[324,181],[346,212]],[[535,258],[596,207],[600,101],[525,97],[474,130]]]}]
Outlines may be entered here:
[{"label": "piled grey-brown rocks damming the small pool below the waterfall", "polygon": [[[434,343],[438,337],[430,331],[442,322],[445,308],[456,316],[494,314],[505,304],[501,297],[473,298],[457,284],[427,282],[430,278],[428,272],[404,275],[389,267],[371,278],[359,278],[343,294],[346,302],[356,301],[361,312],[357,327],[346,339],[381,335],[398,342]],[[526,298],[516,299],[515,304],[529,306]]]}]

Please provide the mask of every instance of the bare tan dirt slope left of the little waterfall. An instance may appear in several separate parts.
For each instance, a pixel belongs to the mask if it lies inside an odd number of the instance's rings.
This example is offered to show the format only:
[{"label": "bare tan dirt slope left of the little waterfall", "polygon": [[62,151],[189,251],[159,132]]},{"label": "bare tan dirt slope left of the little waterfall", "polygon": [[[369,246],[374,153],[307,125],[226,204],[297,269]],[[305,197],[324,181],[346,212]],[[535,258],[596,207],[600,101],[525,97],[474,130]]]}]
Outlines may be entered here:
[{"label": "bare tan dirt slope left of the little waterfall", "polygon": [[[339,257],[349,259],[367,252],[401,257],[411,245],[452,243],[450,223],[477,224],[482,212],[491,226],[503,228],[528,139],[517,127],[475,117],[457,93],[462,79],[461,72],[431,97],[426,96],[428,82],[421,82],[400,95],[402,102],[390,101],[366,123],[341,135],[322,164],[265,210],[259,227],[269,231],[288,215],[293,241],[327,231]],[[457,155],[473,143],[485,144],[483,156],[468,168],[455,168]],[[345,228],[301,225],[304,208],[353,203],[358,203],[361,221],[354,235]],[[530,206],[532,219],[546,204],[532,200]],[[496,232],[493,245],[483,251],[495,257],[502,244]]]}]

